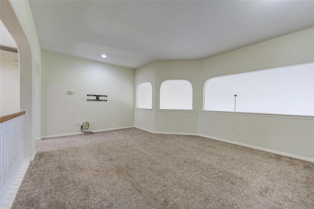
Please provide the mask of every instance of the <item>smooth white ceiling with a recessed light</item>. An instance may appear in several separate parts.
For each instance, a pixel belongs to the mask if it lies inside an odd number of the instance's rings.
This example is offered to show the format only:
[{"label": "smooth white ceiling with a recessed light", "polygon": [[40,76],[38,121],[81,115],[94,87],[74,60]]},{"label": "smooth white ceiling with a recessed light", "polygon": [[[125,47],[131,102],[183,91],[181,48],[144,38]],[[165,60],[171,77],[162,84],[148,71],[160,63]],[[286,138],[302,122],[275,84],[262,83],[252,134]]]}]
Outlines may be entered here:
[{"label": "smooth white ceiling with a recessed light", "polygon": [[314,26],[312,0],[29,4],[42,49],[130,68],[202,59]]}]

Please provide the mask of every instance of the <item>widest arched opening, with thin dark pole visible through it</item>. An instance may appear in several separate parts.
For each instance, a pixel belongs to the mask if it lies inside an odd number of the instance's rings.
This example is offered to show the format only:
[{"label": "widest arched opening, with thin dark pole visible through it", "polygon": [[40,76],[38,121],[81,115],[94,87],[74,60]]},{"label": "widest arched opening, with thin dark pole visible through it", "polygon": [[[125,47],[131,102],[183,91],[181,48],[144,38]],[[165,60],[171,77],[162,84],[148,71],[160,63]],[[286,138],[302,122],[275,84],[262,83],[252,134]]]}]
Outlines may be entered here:
[{"label": "widest arched opening, with thin dark pole visible through it", "polygon": [[203,96],[204,110],[313,116],[314,63],[210,78]]}]

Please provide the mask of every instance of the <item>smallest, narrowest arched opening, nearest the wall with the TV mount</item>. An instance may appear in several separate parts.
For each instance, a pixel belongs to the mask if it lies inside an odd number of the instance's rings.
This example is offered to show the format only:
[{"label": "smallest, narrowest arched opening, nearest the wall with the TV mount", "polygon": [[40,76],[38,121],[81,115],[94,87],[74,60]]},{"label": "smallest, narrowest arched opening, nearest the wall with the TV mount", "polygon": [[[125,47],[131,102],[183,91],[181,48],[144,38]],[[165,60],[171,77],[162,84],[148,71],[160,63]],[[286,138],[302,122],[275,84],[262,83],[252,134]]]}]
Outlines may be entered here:
[{"label": "smallest, narrowest arched opening, nearest the wall with the TV mount", "polygon": [[144,82],[136,88],[136,108],[152,109],[152,84]]}]

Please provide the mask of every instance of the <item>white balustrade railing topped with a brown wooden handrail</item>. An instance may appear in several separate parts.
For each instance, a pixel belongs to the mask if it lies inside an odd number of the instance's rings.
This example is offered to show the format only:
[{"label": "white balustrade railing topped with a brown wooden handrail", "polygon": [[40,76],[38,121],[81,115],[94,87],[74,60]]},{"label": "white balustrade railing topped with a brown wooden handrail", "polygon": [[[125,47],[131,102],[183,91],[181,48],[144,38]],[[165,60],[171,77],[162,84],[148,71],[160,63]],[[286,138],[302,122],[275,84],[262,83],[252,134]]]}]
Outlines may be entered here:
[{"label": "white balustrade railing topped with a brown wooden handrail", "polygon": [[[23,123],[25,111],[1,117],[0,205],[4,203],[24,160]],[[6,118],[5,118],[6,117]]]}]

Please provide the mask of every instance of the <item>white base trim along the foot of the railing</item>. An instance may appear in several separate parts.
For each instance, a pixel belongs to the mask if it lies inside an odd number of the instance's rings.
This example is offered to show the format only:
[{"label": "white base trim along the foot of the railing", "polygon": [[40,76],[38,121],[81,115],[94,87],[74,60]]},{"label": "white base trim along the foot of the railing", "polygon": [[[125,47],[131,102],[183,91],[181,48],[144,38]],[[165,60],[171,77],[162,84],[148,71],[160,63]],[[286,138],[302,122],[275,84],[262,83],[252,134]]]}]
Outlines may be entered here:
[{"label": "white base trim along the foot of the railing", "polygon": [[9,190],[9,193],[6,196],[3,205],[1,205],[1,209],[10,209],[12,207],[12,204],[22,184],[22,181],[24,179],[28,166],[29,166],[29,161],[23,163],[18,177],[16,178],[11,189]]}]

